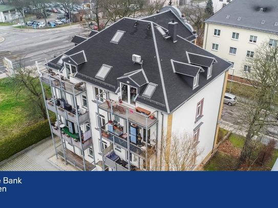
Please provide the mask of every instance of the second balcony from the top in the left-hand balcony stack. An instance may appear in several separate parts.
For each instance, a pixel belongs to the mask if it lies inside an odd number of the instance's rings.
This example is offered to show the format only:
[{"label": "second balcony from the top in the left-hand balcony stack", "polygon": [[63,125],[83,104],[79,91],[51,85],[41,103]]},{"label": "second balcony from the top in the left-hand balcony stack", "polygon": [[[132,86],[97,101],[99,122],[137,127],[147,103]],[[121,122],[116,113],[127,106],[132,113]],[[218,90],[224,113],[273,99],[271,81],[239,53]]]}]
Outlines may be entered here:
[{"label": "second balcony from the top in the left-hand balcony stack", "polygon": [[[53,101],[47,101],[47,108],[52,112],[55,112],[55,108],[57,108],[57,113],[61,115],[61,117],[66,118],[68,121],[71,121],[75,124],[82,124],[89,120],[89,112],[86,110],[85,112],[74,114],[71,111],[67,111],[53,103]],[[78,121],[78,122],[77,122]]]}]

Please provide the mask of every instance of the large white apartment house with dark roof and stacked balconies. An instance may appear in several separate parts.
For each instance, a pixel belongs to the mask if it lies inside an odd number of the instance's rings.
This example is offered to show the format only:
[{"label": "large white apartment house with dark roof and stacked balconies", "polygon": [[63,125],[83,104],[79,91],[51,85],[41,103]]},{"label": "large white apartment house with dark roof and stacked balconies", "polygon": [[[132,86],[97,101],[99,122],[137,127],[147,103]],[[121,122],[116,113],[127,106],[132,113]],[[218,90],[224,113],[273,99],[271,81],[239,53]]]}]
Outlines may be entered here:
[{"label": "large white apartment house with dark roof and stacked balconies", "polygon": [[58,156],[80,170],[153,170],[161,138],[178,131],[203,149],[192,170],[211,154],[231,64],[192,43],[190,31],[183,37],[172,14],[149,17],[164,18],[163,27],[124,17],[39,71],[52,90]]}]

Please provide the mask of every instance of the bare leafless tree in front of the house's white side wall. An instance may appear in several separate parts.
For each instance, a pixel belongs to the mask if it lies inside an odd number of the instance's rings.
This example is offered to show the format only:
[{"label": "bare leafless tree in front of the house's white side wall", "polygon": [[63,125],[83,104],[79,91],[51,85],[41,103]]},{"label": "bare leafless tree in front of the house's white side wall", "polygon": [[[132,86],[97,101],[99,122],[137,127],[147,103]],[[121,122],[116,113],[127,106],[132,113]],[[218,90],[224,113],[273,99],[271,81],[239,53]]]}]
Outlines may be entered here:
[{"label": "bare leafless tree in front of the house's white side wall", "polygon": [[[194,143],[187,132],[173,132],[162,137],[158,155],[151,160],[150,169],[164,171],[189,171],[196,166],[197,157],[203,150]],[[150,154],[151,155],[151,154]]]}]

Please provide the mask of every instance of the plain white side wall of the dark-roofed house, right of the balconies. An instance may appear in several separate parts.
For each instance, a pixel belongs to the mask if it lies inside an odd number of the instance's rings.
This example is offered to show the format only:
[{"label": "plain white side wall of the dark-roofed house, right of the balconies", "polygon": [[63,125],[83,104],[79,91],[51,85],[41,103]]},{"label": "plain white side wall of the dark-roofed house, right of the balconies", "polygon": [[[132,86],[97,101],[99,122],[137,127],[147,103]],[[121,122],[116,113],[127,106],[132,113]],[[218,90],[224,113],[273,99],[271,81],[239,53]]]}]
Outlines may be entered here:
[{"label": "plain white side wall of the dark-roofed house, right of the balconies", "polygon": [[[202,74],[200,76],[202,76]],[[172,132],[183,132],[183,130],[185,130],[187,133],[193,135],[194,128],[203,122],[200,127],[200,143],[197,145],[200,150],[203,149],[203,152],[197,158],[198,165],[210,153],[213,147],[224,79],[225,73],[173,113]],[[197,103],[202,99],[204,99],[203,117],[195,123]]]}]

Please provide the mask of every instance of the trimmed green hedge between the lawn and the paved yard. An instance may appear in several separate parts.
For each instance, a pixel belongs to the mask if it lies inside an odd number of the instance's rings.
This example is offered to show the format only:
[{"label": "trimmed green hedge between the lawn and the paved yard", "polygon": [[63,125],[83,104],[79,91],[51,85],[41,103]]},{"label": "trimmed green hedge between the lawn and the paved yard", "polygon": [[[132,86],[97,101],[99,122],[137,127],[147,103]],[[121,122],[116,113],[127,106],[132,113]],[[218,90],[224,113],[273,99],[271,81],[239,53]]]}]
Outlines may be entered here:
[{"label": "trimmed green hedge between the lawn and the paved yard", "polygon": [[51,136],[48,120],[23,128],[19,133],[0,140],[0,162]]}]

